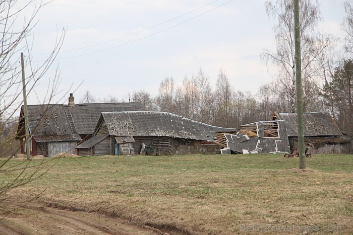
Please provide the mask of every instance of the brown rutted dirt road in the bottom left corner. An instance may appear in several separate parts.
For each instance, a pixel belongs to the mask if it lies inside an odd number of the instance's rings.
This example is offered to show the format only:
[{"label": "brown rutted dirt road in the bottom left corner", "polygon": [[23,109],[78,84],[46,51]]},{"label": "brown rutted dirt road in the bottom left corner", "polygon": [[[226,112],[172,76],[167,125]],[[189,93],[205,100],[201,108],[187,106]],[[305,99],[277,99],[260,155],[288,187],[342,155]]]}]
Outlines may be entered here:
[{"label": "brown rutted dirt road in the bottom left corner", "polygon": [[11,208],[14,210],[0,220],[0,234],[165,234],[118,218],[43,207],[34,202],[13,204]]}]

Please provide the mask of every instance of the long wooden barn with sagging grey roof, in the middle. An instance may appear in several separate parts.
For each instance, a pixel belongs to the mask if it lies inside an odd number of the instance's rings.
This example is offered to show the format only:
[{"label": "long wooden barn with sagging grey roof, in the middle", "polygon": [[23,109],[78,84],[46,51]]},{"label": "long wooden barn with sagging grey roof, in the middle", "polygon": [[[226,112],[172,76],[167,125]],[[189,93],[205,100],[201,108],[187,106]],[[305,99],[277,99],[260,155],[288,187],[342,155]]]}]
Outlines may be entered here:
[{"label": "long wooden barn with sagging grey roof, in the middle", "polygon": [[215,127],[165,112],[103,112],[79,155],[219,153]]}]

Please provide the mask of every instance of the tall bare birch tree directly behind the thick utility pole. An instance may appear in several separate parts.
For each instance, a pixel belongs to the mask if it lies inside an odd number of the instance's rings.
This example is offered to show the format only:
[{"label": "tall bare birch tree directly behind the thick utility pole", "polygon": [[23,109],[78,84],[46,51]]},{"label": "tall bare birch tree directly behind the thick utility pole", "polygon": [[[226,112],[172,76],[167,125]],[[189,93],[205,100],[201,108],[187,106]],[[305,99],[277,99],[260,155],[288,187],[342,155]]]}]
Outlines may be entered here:
[{"label": "tall bare birch tree directly behind the thick utility pole", "polygon": [[[273,62],[277,68],[273,90],[280,99],[288,103],[290,112],[296,112],[296,63],[295,63],[295,38],[294,38],[294,11],[291,0],[277,0],[276,3],[266,2],[266,11],[269,16],[277,20],[274,27],[276,38],[276,51],[264,50],[261,58],[267,63]],[[303,84],[315,84],[317,86],[303,86],[304,94],[310,94],[310,99],[319,97],[318,90],[313,92],[312,88],[320,87],[320,72],[322,63],[319,62],[325,56],[326,48],[332,46],[333,37],[329,34],[318,34],[314,32],[315,26],[321,20],[319,4],[317,1],[300,0],[300,37],[302,58]],[[304,96],[304,102],[308,102],[309,96]]]}]

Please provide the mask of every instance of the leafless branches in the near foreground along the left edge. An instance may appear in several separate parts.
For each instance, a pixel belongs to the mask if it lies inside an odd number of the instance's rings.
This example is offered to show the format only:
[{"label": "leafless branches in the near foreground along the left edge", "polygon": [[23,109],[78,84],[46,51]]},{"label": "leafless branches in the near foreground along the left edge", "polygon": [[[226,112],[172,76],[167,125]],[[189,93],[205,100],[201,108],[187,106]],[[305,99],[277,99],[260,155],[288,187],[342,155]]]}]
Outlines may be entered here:
[{"label": "leafless branches in the near foreground along the left edge", "polygon": [[[22,77],[20,52],[24,52],[26,68],[26,90],[27,95],[35,93],[36,85],[44,78],[49,81],[48,89],[45,92],[43,102],[49,103],[57,95],[57,88],[60,83],[58,73],[50,79],[46,72],[52,65],[58,51],[60,50],[65,29],[57,36],[52,51],[47,54],[46,59],[41,64],[34,65],[31,56],[31,42],[34,27],[36,25],[36,15],[45,6],[37,4],[36,1],[13,1],[0,0],[0,153],[7,158],[0,161],[0,174],[15,176],[8,182],[0,184],[0,202],[7,200],[6,193],[18,186],[29,183],[40,177],[39,173],[43,168],[43,162],[17,162],[8,164],[11,155],[20,148],[15,142],[15,136],[20,132],[14,131],[14,126],[18,124],[18,119],[14,118],[22,105]],[[32,10],[31,10],[32,9]],[[29,11],[32,11],[30,14]],[[19,24],[23,22],[23,24]],[[25,117],[28,118],[28,117]],[[21,120],[20,120],[21,121]],[[37,120],[38,125],[41,120]],[[14,129],[13,129],[14,128]],[[10,131],[9,131],[10,130]],[[20,130],[21,131],[21,130]],[[34,130],[32,130],[34,131]],[[29,136],[22,136],[28,138]],[[22,138],[21,137],[21,138]],[[35,167],[34,173],[27,174],[27,169]],[[6,204],[2,203],[0,210],[6,210]]]}]

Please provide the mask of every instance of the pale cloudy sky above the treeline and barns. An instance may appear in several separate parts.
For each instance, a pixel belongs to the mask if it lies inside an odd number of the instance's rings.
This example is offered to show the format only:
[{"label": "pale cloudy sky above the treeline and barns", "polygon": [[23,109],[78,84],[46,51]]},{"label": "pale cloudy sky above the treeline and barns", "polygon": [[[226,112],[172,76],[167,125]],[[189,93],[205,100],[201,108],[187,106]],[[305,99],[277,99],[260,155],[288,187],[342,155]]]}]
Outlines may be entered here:
[{"label": "pale cloudy sky above the treeline and barns", "polygon": [[[344,2],[319,0],[322,32],[344,37]],[[276,22],[264,0],[53,0],[36,20],[33,64],[45,59],[62,28],[67,32],[28,104],[42,102],[56,69],[61,83],[54,103],[67,103],[69,93],[79,103],[87,90],[125,101],[141,89],[155,96],[165,77],[180,85],[200,68],[213,88],[221,68],[234,90],[255,94],[275,73],[260,59],[265,48],[275,50]]]}]

